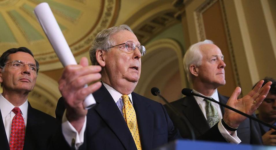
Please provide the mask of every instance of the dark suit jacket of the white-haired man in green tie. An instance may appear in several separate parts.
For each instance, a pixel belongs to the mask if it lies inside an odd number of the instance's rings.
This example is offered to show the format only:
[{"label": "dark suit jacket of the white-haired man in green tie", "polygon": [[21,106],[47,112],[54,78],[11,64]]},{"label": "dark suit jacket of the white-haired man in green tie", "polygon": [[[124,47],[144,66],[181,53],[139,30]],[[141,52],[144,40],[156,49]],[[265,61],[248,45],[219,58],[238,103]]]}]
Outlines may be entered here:
[{"label": "dark suit jacket of the white-haired man in green tie", "polygon": [[[226,104],[229,97],[225,97],[219,94],[219,101]],[[193,126],[195,136],[200,137],[206,133],[210,127],[207,123],[206,118],[204,117],[199,105],[197,104],[193,96],[187,96],[181,98],[177,101],[171,102],[171,104],[178,110],[182,112],[189,120]],[[167,106],[165,105],[167,112],[173,121],[176,128],[179,129],[179,132],[183,138],[191,138],[187,126],[183,123],[178,116],[176,116]],[[224,114],[224,108],[221,107],[221,112]],[[255,116],[255,114],[253,114]],[[255,116],[256,117],[256,116]],[[242,141],[241,143],[246,144],[262,144],[262,137],[260,132],[259,124],[249,118],[243,121],[238,129],[237,135]]]}]

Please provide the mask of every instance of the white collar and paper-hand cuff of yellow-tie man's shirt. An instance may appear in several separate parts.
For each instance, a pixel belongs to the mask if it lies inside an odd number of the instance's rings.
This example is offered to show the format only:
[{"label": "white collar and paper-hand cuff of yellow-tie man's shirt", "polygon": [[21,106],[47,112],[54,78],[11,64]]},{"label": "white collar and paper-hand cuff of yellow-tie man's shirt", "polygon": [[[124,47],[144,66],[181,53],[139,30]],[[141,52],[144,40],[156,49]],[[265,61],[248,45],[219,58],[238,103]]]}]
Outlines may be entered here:
[{"label": "white collar and paper-hand cuff of yellow-tie man's shirt", "polygon": [[[112,88],[111,86],[105,84],[104,82],[102,82],[102,84],[108,90],[108,92],[110,93],[110,95],[113,98],[114,102],[117,103],[119,101],[119,99],[122,97],[123,94],[121,94],[120,92],[118,92],[117,90]],[[133,103],[131,93],[128,94],[128,97],[130,99],[130,102]],[[119,109],[119,107],[118,107],[118,109]],[[77,130],[68,121],[65,114],[66,114],[66,110],[65,110],[65,112],[63,114],[63,117],[62,117],[62,124],[61,124],[62,133],[64,135],[64,138],[65,138],[66,142],[68,142],[69,145],[71,145],[72,139],[75,139],[75,148],[79,149],[79,147],[83,144],[83,141],[84,141],[84,132],[85,132],[85,128],[86,128],[86,116],[85,116],[85,122],[83,124],[82,129],[81,129],[81,132],[78,133]]]}]

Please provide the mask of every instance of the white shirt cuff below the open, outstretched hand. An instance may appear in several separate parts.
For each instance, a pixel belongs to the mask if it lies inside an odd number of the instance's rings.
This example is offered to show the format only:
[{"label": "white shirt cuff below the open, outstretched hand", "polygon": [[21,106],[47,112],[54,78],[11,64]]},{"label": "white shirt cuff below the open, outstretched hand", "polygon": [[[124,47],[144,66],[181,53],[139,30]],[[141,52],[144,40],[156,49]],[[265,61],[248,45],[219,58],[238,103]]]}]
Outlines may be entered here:
[{"label": "white shirt cuff below the open, outstretched hand", "polygon": [[225,127],[223,127],[221,120],[218,123],[218,128],[219,128],[219,132],[221,133],[223,138],[227,140],[227,142],[233,143],[233,144],[239,144],[241,142],[241,140],[237,136],[237,131],[229,134],[229,132],[225,129]]}]

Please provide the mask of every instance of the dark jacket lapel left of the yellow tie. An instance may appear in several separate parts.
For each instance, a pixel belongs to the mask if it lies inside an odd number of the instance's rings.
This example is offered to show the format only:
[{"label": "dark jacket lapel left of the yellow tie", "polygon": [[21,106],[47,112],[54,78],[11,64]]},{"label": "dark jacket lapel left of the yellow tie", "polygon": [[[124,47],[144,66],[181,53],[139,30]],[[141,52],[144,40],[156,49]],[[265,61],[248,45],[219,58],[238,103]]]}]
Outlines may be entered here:
[{"label": "dark jacket lapel left of the yellow tie", "polygon": [[96,112],[98,112],[102,119],[116,134],[124,147],[126,149],[136,149],[135,142],[128,130],[126,121],[105,86],[102,85],[98,91],[93,93],[93,96],[98,103],[98,105],[95,106]]}]

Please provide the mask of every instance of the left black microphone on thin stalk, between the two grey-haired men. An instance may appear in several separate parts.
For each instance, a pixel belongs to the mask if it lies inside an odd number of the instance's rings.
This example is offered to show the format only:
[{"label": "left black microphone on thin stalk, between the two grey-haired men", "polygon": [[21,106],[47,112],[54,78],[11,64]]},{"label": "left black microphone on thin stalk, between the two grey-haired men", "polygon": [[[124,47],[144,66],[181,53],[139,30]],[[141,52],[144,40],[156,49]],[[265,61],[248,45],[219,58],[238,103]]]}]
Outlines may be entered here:
[{"label": "left black microphone on thin stalk, between the two grey-haired men", "polygon": [[178,117],[180,117],[182,119],[182,121],[184,121],[184,123],[187,125],[189,131],[190,131],[190,134],[191,134],[191,137],[192,137],[192,140],[195,140],[195,132],[193,130],[193,127],[191,126],[190,122],[188,121],[188,119],[186,118],[186,116],[182,115],[180,112],[178,112],[176,110],[176,108],[174,108],[173,105],[171,105],[161,94],[160,94],[160,90],[156,87],[153,87],[151,88],[151,93],[152,95],[154,96],[159,96],[161,97],[161,99],[163,99],[163,101],[165,101],[165,103],[168,105],[169,109],[174,112],[174,114],[176,114]]}]

